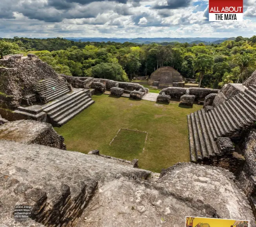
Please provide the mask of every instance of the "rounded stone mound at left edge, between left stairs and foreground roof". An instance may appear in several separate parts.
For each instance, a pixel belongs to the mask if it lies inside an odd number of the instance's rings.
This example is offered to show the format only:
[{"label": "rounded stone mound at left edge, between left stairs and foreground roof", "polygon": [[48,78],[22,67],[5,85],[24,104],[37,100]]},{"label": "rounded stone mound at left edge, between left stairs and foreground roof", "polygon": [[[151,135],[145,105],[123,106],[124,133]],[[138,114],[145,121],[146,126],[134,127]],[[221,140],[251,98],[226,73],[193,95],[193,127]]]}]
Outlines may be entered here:
[{"label": "rounded stone mound at left edge, between left stairs and foreground roof", "polygon": [[6,122],[0,126],[1,139],[66,149],[64,138],[57,134],[51,124],[34,120]]}]

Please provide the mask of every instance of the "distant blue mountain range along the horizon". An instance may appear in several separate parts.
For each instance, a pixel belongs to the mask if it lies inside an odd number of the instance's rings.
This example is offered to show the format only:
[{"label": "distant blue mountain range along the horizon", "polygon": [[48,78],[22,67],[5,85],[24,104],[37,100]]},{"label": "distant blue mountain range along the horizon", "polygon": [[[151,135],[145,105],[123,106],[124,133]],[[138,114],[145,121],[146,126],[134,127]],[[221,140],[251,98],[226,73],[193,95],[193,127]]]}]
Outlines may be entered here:
[{"label": "distant blue mountain range along the horizon", "polygon": [[225,40],[234,40],[235,38],[101,38],[101,37],[67,37],[68,40],[73,40],[75,42],[132,42],[137,44],[150,44],[150,43],[170,43],[170,42],[179,42],[179,43],[189,43],[189,44],[199,44],[203,42],[206,45],[209,44],[220,44]]}]

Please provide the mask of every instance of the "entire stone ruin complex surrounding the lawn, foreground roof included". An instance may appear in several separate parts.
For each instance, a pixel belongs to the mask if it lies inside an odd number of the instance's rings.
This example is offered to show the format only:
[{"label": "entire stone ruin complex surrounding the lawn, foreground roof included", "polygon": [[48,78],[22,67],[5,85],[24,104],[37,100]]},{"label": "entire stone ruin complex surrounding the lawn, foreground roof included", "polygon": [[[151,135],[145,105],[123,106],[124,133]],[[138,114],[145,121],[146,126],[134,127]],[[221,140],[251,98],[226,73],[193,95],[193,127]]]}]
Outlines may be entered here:
[{"label": "entire stone ruin complex surrounding the lawn, foreground roof included", "polygon": [[[220,91],[160,92],[158,101],[204,100],[204,108],[187,116],[191,162],[159,176],[137,159],[66,151],[52,126],[93,104],[95,91],[142,99],[148,89],[58,75],[33,54],[5,56],[0,65],[1,227],[181,227],[188,215],[256,227],[256,73]],[[31,206],[29,218],[14,218],[14,205]]]}]

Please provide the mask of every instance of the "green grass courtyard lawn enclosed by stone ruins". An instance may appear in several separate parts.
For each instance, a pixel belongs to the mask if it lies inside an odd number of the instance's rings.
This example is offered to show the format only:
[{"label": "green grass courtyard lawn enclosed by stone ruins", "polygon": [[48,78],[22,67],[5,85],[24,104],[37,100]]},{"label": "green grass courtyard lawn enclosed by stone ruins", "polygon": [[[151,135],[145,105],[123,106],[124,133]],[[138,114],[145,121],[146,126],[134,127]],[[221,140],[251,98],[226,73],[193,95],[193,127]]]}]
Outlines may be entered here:
[{"label": "green grass courtyard lawn enclosed by stone ruins", "polygon": [[[106,94],[92,98],[95,104],[61,128],[55,128],[64,136],[68,150],[88,153],[98,149],[101,154],[117,158],[138,158],[139,168],[154,172],[177,162],[190,161],[187,114],[201,109],[201,105],[182,108],[178,102],[165,105]],[[147,132],[144,152],[141,149],[143,133],[124,132],[113,140],[120,128]]]}]

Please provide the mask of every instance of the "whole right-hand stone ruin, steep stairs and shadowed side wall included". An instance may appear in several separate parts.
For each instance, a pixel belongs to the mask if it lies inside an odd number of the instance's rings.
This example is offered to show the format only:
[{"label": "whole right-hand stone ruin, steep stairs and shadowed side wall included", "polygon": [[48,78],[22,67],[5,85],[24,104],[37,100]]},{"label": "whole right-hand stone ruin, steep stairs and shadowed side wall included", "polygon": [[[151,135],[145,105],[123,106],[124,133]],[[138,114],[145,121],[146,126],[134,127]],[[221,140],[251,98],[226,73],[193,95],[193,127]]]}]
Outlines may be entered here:
[{"label": "whole right-hand stone ruin, steep stairs and shadowed side wall included", "polygon": [[[248,82],[250,81],[250,82]],[[256,73],[244,84],[227,84],[188,115],[190,159],[235,174],[256,216]]]}]

